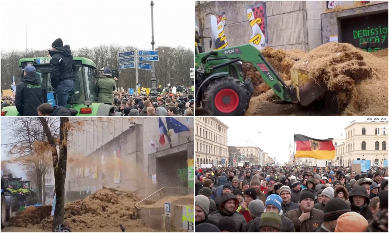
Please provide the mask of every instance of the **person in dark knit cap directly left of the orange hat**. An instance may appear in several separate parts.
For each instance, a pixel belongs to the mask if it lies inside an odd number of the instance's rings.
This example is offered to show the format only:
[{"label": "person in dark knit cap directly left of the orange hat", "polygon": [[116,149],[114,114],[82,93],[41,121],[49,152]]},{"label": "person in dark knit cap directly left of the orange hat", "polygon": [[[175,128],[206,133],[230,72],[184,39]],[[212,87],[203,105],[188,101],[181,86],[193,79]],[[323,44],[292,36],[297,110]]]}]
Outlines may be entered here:
[{"label": "person in dark knit cap directly left of the orange hat", "polygon": [[316,232],[334,232],[338,218],[347,212],[350,212],[350,207],[343,200],[333,198],[329,200],[324,207],[323,223]]}]

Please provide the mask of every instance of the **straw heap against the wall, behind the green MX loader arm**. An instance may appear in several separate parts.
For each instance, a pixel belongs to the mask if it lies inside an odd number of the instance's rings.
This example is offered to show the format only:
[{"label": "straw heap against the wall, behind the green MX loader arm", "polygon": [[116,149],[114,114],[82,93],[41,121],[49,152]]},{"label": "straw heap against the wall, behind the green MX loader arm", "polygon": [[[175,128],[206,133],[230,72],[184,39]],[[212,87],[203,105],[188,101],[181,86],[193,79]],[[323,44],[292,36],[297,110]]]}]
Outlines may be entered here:
[{"label": "straw heap against the wall, behind the green MX loader arm", "polygon": [[[266,47],[261,53],[283,80],[291,79],[290,69],[296,61],[300,60],[300,58],[305,55],[305,52],[301,50],[286,51],[270,47]],[[246,72],[247,77],[252,80],[254,86],[253,97],[259,96],[270,90],[267,83],[263,81],[261,73],[254,68],[251,63],[244,62],[242,64],[242,69]]]}]

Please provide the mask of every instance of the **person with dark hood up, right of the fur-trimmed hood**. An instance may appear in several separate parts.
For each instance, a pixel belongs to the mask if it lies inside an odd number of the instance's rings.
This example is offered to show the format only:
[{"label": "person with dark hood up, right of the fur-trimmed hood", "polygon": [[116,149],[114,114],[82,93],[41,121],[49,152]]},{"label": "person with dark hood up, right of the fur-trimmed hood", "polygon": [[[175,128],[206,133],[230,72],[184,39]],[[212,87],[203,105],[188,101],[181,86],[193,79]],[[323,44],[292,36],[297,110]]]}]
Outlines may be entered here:
[{"label": "person with dark hood up, right of the fur-trimmed hood", "polygon": [[363,186],[355,186],[349,195],[350,209],[361,214],[367,221],[373,218],[369,208],[370,198]]}]

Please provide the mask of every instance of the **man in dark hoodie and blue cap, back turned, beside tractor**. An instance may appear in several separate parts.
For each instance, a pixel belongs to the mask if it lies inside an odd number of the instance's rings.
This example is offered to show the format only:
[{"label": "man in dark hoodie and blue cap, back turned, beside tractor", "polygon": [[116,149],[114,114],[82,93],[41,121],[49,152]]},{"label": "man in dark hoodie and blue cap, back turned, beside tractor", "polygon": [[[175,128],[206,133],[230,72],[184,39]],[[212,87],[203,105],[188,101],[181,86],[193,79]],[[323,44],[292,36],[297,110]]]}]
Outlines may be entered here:
[{"label": "man in dark hoodie and blue cap, back turned, beside tractor", "polygon": [[26,66],[22,82],[16,85],[16,109],[21,116],[35,117],[38,106],[43,103],[47,103],[46,89],[37,77],[35,67]]}]

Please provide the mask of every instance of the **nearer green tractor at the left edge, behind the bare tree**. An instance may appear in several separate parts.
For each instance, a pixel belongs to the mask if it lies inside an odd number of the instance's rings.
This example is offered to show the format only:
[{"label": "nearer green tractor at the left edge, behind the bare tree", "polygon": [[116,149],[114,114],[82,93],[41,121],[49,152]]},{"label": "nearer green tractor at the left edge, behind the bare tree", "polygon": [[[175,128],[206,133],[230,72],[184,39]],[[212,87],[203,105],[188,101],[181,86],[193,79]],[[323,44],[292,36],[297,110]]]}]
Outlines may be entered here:
[{"label": "nearer green tractor at the left edge, behind the bare tree", "polygon": [[[21,178],[13,177],[12,174],[1,177],[1,189],[5,196],[11,196],[11,210],[17,210],[19,207],[32,204],[30,190],[23,188],[20,184]],[[23,197],[23,198],[21,198]]]}]

